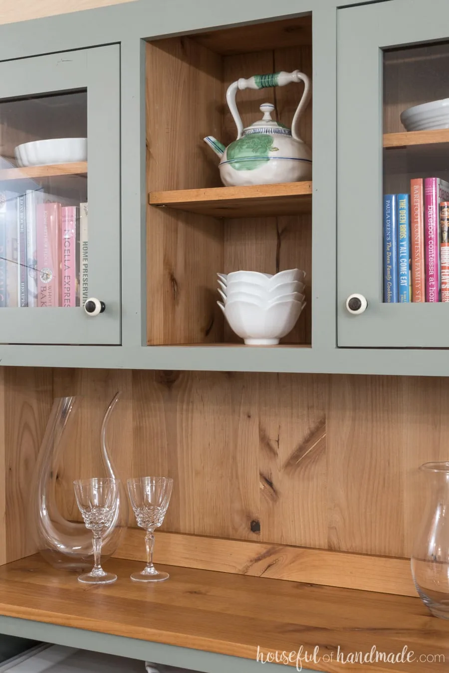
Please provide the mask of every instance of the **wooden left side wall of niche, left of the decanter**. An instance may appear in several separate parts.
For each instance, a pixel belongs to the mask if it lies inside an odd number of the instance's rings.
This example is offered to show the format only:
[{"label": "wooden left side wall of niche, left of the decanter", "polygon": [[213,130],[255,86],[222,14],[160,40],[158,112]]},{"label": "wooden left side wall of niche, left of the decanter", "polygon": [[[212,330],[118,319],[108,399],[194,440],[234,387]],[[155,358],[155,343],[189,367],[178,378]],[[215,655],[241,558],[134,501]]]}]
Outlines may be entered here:
[{"label": "wooden left side wall of niche, left of the decanter", "polygon": [[28,495],[53,404],[53,372],[0,368],[0,565],[34,553]]}]

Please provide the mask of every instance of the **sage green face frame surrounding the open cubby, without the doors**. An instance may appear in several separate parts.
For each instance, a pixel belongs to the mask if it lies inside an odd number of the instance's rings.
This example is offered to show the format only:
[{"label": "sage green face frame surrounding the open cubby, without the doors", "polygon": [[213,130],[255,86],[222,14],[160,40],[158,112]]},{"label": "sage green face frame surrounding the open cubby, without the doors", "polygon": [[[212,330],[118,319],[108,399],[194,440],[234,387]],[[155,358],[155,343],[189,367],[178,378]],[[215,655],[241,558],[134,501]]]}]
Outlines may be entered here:
[{"label": "sage green face frame surrounding the open cubby, without the doors", "polygon": [[[407,0],[421,5],[423,0]],[[433,1],[433,0],[432,0]],[[121,67],[121,318],[120,346],[0,346],[3,365],[218,369],[449,375],[438,351],[337,347],[337,14],[399,11],[401,0],[137,0],[124,5],[0,27],[0,61],[47,52],[120,44]],[[339,9],[345,5],[345,9]],[[312,12],[313,240],[312,348],[145,345],[145,59],[146,39]],[[419,27],[417,27],[419,30]],[[449,28],[448,28],[449,34]],[[349,103],[348,103],[349,104]],[[376,130],[373,131],[376,133]],[[344,262],[343,252],[339,259]],[[106,260],[104,262],[106,264]],[[351,290],[352,291],[352,290]],[[357,291],[354,288],[353,291]],[[101,297],[100,297],[101,298]],[[102,320],[98,316],[95,320]],[[358,344],[357,344],[358,345]]]}]

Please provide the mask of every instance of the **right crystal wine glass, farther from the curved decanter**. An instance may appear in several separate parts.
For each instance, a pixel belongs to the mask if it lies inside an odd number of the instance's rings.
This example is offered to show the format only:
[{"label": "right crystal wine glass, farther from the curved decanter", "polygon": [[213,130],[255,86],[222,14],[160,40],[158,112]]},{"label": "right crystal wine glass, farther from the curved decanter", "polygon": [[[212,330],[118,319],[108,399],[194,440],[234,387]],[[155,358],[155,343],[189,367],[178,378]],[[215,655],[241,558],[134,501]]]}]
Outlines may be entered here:
[{"label": "right crystal wine glass, farther from the curved decanter", "polygon": [[135,582],[160,582],[168,573],[156,570],[153,565],[154,529],[162,526],[172,495],[173,479],[168,476],[141,476],[128,479],[128,493],[137,526],[145,528],[147,565],[140,573],[133,573]]}]

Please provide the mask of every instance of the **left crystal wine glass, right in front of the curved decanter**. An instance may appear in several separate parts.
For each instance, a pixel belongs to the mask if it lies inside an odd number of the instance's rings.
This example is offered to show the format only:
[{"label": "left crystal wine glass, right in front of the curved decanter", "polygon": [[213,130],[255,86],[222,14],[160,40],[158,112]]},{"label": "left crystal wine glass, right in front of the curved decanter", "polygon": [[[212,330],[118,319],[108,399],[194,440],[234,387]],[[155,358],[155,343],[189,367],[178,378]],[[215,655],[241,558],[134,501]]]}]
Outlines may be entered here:
[{"label": "left crystal wine glass, right in front of the curved decanter", "polygon": [[92,530],[94,567],[90,573],[79,575],[78,581],[85,584],[110,584],[117,575],[106,573],[100,565],[102,534],[108,529],[117,505],[118,479],[79,479],[73,482],[75,497],[85,527]]}]

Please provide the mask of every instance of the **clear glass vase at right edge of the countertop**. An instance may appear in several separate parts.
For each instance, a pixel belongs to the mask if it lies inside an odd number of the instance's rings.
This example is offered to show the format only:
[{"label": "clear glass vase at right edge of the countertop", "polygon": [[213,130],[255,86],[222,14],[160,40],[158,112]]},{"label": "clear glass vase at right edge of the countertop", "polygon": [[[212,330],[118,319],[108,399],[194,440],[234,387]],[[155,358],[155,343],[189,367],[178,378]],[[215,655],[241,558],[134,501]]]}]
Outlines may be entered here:
[{"label": "clear glass vase at right edge of the countertop", "polygon": [[427,462],[426,506],[411,555],[416,590],[430,612],[449,619],[449,462]]}]

